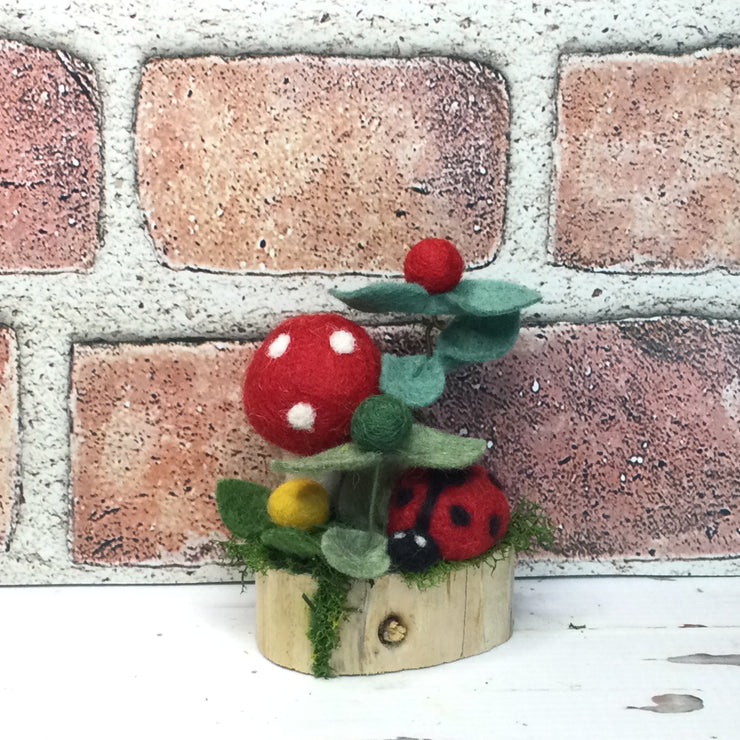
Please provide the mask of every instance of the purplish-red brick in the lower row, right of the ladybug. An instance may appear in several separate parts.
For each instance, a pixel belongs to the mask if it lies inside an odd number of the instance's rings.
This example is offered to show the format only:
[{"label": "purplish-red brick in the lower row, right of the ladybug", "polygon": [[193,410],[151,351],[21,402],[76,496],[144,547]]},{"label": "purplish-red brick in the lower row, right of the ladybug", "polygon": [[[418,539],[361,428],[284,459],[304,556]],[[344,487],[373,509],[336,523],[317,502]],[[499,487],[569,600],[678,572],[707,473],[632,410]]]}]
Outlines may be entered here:
[{"label": "purplish-red brick in the lower row, right of the ladybug", "polygon": [[738,555],[739,366],[737,323],[527,328],[427,415],[490,440],[511,500],[542,502],[561,528],[546,558]]}]

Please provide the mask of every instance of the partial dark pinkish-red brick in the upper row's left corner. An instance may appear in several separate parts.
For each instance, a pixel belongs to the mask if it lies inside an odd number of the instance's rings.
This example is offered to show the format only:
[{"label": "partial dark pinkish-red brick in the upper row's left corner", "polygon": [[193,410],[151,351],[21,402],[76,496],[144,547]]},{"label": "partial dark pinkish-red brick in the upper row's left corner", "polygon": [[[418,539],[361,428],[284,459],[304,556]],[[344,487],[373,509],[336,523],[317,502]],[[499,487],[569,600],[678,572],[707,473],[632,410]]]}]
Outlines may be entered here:
[{"label": "partial dark pinkish-red brick in the upper row's left corner", "polygon": [[93,71],[0,41],[0,76],[0,272],[87,269],[101,190]]}]

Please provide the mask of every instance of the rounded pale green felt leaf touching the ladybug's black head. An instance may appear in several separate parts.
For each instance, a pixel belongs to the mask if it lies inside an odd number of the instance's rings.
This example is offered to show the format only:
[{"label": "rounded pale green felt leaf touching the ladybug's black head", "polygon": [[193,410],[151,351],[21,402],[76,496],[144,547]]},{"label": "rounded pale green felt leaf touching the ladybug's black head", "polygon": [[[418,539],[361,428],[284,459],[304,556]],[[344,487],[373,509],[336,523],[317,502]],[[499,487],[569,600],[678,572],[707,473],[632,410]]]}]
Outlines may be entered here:
[{"label": "rounded pale green felt leaf touching the ladybug's black head", "polygon": [[321,538],[326,562],[352,578],[378,578],[390,567],[386,538],[378,532],[332,527]]}]

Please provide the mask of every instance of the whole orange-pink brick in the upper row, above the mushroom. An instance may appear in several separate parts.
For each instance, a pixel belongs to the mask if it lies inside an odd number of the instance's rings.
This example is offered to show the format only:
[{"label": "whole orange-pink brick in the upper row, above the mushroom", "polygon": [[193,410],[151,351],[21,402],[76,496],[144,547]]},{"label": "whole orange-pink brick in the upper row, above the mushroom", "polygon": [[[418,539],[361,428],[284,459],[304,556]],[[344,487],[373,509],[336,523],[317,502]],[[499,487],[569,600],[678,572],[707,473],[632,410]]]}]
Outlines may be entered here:
[{"label": "whole orange-pink brick in the upper row, above the mushroom", "polygon": [[400,270],[428,236],[501,240],[508,101],[450,59],[158,59],[139,94],[141,203],[167,265]]}]

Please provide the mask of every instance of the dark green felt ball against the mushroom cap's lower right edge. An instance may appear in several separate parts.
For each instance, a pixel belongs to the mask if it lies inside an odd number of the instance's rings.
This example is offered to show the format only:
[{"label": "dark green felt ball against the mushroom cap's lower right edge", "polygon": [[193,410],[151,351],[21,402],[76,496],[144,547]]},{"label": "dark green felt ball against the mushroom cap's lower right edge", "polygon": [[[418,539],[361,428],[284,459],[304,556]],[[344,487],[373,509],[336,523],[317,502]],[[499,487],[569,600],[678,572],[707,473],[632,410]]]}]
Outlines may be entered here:
[{"label": "dark green felt ball against the mushroom cap's lower right edge", "polygon": [[411,432],[411,411],[387,393],[368,396],[352,414],[350,435],[361,449],[392,452],[399,449]]}]

